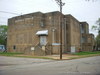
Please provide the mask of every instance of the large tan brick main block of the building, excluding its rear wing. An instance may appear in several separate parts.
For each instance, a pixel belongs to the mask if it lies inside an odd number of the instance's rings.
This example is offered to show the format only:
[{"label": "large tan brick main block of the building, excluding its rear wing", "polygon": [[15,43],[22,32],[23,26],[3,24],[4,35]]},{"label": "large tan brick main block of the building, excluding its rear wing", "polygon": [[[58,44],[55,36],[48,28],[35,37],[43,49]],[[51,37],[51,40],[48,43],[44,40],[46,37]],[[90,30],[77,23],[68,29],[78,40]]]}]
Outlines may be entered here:
[{"label": "large tan brick main block of the building, excluding its rear wing", "polygon": [[62,15],[62,51],[77,52],[82,47],[80,22],[58,11],[31,13],[8,20],[8,52],[33,55],[59,54],[60,16]]}]

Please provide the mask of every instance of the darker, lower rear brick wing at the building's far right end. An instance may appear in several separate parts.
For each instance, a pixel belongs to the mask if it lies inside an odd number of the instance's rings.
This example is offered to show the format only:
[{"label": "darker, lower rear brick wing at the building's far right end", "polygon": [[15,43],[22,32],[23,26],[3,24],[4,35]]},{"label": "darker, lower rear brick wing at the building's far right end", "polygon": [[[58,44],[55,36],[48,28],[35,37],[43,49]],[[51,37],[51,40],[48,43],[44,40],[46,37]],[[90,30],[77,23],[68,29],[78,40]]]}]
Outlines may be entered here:
[{"label": "darker, lower rear brick wing at the building's far right end", "polygon": [[95,41],[94,41],[94,35],[89,34],[89,25],[87,22],[80,22],[81,26],[81,48],[82,51],[93,51]]}]

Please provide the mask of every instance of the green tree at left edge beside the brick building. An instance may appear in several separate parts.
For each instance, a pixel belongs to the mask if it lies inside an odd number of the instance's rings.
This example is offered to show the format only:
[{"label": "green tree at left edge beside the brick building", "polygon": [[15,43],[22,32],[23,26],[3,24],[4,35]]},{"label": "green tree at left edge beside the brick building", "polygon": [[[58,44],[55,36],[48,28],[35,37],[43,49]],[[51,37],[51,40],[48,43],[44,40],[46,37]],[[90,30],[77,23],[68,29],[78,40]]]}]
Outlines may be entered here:
[{"label": "green tree at left edge beside the brick building", "polygon": [[0,44],[5,46],[7,44],[7,29],[8,26],[0,25]]}]

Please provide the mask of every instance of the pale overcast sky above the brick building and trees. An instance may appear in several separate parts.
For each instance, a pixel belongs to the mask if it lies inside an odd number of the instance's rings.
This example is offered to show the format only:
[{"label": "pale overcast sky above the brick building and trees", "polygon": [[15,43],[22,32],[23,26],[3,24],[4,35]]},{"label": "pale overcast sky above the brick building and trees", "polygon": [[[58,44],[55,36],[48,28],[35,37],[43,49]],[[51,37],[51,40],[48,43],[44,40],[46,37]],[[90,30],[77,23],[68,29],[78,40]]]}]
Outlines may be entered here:
[{"label": "pale overcast sky above the brick building and trees", "polygon": [[[64,14],[71,14],[79,21],[87,21],[90,25],[90,32],[95,35],[97,32],[91,31],[91,26],[96,25],[95,22],[100,18],[100,0],[62,0],[66,3],[63,6]],[[55,0],[0,0],[0,24],[7,25],[7,19],[17,16],[15,14],[3,13],[11,12],[20,14],[28,14],[41,11],[43,13],[59,11],[59,6]]]}]

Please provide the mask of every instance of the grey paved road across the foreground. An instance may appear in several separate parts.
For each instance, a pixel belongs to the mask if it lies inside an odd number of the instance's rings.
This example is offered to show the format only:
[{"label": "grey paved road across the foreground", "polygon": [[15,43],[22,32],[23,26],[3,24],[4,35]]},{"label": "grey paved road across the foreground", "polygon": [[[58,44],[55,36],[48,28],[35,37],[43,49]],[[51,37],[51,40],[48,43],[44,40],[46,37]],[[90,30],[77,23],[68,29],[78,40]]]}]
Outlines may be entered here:
[{"label": "grey paved road across the foreground", "polygon": [[100,75],[100,56],[63,61],[0,56],[0,75]]}]

